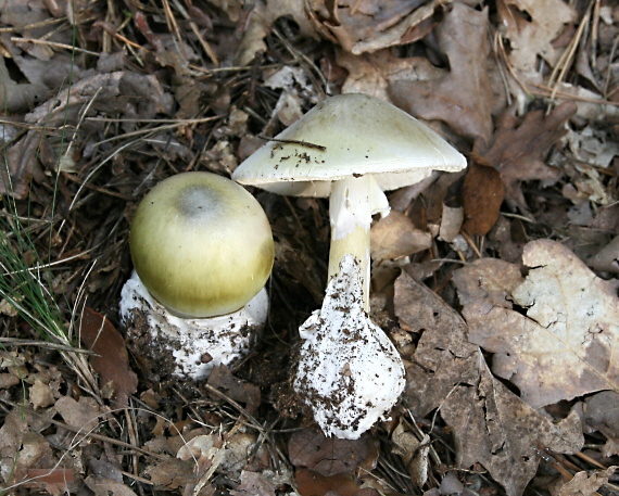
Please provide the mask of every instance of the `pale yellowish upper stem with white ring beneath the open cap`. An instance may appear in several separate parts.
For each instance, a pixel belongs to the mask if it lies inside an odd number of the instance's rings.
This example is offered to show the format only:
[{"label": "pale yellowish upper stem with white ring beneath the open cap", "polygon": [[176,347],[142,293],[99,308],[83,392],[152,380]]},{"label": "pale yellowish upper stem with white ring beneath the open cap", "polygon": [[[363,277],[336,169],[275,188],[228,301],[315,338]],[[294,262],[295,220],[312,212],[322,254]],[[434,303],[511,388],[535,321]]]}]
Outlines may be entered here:
[{"label": "pale yellowish upper stem with white ring beneath the open cap", "polygon": [[331,246],[329,281],[340,271],[345,255],[353,255],[359,265],[363,307],[369,310],[369,227],[372,214],[389,213],[387,196],[371,175],[349,176],[333,182],[329,200]]}]

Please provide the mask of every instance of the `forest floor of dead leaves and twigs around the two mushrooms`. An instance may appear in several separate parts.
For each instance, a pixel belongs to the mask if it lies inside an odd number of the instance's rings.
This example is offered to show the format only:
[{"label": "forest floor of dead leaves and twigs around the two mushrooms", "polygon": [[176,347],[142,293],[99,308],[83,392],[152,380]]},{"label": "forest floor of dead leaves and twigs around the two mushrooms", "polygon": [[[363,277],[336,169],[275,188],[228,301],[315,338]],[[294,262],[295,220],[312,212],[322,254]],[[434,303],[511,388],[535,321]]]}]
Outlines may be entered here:
[{"label": "forest floor of dead leaves and twigs around the two mushrooms", "polygon": [[[0,26],[2,494],[619,495],[616,1],[3,0]],[[406,386],[355,441],[289,386],[328,200],[249,188],[275,265],[242,361],[161,377],[118,318],[153,186],[351,92],[468,160],[372,222]]]}]

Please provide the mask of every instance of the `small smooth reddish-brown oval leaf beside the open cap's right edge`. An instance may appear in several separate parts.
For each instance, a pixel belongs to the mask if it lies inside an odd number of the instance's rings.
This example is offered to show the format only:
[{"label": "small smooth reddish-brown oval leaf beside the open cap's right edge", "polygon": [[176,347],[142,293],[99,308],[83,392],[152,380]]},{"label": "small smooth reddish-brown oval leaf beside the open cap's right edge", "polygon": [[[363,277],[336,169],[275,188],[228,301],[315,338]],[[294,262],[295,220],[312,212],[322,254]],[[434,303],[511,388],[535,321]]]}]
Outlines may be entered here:
[{"label": "small smooth reddish-brown oval leaf beside the open cap's right edge", "polygon": [[505,188],[493,167],[479,162],[468,166],[463,189],[465,222],[469,234],[485,236],[498,220]]}]

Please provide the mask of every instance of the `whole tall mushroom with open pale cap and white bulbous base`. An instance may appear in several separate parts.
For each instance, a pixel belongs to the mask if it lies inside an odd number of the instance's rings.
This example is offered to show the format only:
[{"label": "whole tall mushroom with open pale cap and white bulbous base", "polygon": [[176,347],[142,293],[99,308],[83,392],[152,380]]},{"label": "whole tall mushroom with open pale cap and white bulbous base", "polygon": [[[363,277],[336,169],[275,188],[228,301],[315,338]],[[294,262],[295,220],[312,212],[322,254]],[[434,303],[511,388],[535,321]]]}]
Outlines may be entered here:
[{"label": "whole tall mushroom with open pale cap and white bulbous base", "polygon": [[329,283],[321,309],[300,328],[293,382],[326,434],[358,437],[404,389],[402,358],[367,315],[369,228],[374,214],[389,214],[383,191],[465,167],[460,153],[407,113],[351,93],[318,103],[232,174],[279,194],[330,196]]}]

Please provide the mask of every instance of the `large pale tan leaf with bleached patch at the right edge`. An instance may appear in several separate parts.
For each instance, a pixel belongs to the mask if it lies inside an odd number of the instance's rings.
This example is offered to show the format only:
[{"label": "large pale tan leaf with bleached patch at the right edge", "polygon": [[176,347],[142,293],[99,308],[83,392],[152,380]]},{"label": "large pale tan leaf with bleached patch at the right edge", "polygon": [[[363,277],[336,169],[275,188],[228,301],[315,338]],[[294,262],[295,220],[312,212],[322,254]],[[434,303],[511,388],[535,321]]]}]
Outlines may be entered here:
[{"label": "large pale tan leaf with bleached patch at the right edge", "polygon": [[469,340],[494,353],[493,372],[534,408],[619,391],[615,285],[553,241],[528,243],[522,260],[531,270],[521,283],[497,279],[489,259],[454,272]]}]

